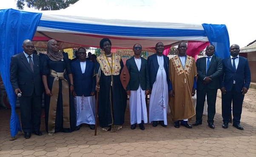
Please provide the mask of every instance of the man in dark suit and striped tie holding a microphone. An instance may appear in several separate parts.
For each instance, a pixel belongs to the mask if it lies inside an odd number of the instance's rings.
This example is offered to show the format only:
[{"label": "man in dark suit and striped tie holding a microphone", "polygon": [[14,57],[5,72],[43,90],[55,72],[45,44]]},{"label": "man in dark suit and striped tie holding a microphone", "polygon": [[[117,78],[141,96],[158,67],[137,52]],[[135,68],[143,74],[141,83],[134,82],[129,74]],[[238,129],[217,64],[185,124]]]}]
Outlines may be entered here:
[{"label": "man in dark suit and striped tie holding a microphone", "polygon": [[10,81],[16,95],[20,95],[20,115],[24,137],[31,132],[41,136],[42,79],[39,56],[30,40],[23,42],[23,52],[11,57]]}]

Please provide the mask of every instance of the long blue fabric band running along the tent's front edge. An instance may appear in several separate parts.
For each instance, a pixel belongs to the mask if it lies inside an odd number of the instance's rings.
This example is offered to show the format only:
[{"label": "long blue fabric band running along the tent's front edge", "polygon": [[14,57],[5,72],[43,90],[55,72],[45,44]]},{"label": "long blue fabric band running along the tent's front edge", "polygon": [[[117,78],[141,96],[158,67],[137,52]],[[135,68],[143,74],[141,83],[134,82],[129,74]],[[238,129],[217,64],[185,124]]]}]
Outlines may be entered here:
[{"label": "long blue fabric band running along the tent's front edge", "polygon": [[172,28],[146,28],[117,25],[96,25],[88,23],[60,22],[40,20],[40,27],[54,28],[59,30],[86,32],[88,34],[105,34],[113,36],[206,36],[204,30],[172,29]]}]

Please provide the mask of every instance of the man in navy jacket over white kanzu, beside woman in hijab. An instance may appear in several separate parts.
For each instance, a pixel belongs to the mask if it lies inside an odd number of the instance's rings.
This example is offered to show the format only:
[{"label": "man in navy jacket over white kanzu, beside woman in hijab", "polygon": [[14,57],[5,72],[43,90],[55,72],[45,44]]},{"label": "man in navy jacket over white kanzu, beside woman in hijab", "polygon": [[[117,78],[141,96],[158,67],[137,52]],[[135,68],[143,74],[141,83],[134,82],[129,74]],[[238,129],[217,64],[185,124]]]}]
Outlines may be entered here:
[{"label": "man in navy jacket over white kanzu, beside woman in hijab", "polygon": [[95,86],[94,63],[86,59],[85,48],[78,48],[78,59],[71,63],[74,78],[74,104],[77,113],[79,130],[82,123],[88,124],[90,129],[95,127]]}]

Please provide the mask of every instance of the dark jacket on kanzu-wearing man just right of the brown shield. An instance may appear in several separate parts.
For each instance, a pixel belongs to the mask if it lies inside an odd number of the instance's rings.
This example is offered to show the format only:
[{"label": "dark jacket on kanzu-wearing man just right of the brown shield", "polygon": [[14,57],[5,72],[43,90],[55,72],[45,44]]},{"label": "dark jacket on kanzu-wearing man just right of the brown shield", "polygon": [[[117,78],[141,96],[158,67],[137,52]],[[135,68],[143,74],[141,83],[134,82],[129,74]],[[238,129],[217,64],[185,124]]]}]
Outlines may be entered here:
[{"label": "dark jacket on kanzu-wearing man just right of the brown shield", "polygon": [[126,67],[129,71],[130,80],[126,87],[126,90],[138,90],[139,85],[142,90],[149,90],[149,76],[147,60],[141,57],[141,67],[138,67],[135,63],[134,56],[126,61]]}]

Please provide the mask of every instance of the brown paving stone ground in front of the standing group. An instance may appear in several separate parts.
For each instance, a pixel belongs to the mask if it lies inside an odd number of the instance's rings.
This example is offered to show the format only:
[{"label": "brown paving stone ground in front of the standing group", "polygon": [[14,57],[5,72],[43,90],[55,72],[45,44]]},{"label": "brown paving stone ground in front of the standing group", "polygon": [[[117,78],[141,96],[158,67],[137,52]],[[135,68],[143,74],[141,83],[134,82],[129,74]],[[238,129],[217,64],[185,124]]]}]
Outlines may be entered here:
[{"label": "brown paving stone ground in front of the standing group", "polygon": [[[256,90],[246,99],[256,99]],[[17,109],[19,115],[20,110]],[[229,125],[222,128],[221,98],[217,97],[215,129],[203,124],[187,129],[174,128],[168,116],[166,128],[145,124],[145,130],[130,129],[129,108],[126,109],[125,123],[118,132],[100,132],[94,136],[94,130],[83,125],[79,131],[58,132],[48,136],[31,135],[25,139],[19,132],[17,140],[10,141],[9,119],[11,110],[0,109],[0,157],[256,157],[256,112],[243,108],[241,125],[238,130]],[[192,118],[193,123],[195,117]]]}]

